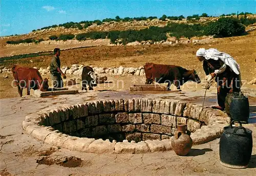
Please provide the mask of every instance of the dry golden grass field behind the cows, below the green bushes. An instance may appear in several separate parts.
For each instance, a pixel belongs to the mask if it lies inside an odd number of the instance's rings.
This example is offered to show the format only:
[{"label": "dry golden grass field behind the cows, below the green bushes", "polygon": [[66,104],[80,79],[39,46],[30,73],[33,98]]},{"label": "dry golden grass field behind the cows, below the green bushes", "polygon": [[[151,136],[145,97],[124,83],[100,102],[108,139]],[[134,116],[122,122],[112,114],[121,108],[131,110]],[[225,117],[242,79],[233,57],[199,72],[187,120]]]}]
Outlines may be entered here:
[{"label": "dry golden grass field behind the cows, below the green bushes", "polygon": [[[204,77],[202,63],[195,56],[199,48],[217,48],[233,56],[240,64],[242,79],[251,80],[256,75],[256,31],[249,35],[229,38],[213,39],[207,45],[151,45],[151,46],[120,46],[120,47],[93,47],[62,51],[61,65],[83,64],[97,67],[140,67],[145,62],[180,65],[188,70],[197,70],[200,77]],[[30,60],[33,60],[31,63]],[[1,65],[11,67],[12,64],[20,64],[27,67],[43,67],[50,65],[51,56],[39,56],[34,58],[5,61]],[[2,78],[2,76],[1,76]],[[13,97],[8,94],[12,89],[12,78],[0,79],[1,97]],[[8,85],[7,85],[8,84]],[[16,92],[16,89],[14,90]]]}]

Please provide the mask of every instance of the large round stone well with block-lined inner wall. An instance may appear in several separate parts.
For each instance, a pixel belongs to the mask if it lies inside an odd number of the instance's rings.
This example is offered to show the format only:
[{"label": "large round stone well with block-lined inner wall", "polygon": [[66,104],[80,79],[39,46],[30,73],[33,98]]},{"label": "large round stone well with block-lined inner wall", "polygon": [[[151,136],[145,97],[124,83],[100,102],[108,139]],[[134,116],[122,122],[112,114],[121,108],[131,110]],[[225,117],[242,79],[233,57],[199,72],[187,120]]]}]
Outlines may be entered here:
[{"label": "large round stone well with block-lined inner wall", "polygon": [[44,109],[23,121],[27,134],[83,152],[144,153],[171,150],[177,123],[193,145],[214,140],[229,124],[225,113],[179,100],[119,99]]}]

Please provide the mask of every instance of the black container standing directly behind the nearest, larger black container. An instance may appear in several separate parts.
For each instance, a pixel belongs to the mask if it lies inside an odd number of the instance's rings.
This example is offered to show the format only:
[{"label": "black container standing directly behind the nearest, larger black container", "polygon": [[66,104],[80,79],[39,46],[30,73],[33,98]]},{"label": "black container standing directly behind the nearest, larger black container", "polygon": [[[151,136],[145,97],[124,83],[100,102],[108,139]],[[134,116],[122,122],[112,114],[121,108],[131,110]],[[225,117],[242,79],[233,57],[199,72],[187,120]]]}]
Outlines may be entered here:
[{"label": "black container standing directly behind the nearest, larger black container", "polygon": [[232,120],[248,123],[250,116],[248,97],[245,97],[242,93],[238,96],[233,96],[229,106],[229,113]]}]

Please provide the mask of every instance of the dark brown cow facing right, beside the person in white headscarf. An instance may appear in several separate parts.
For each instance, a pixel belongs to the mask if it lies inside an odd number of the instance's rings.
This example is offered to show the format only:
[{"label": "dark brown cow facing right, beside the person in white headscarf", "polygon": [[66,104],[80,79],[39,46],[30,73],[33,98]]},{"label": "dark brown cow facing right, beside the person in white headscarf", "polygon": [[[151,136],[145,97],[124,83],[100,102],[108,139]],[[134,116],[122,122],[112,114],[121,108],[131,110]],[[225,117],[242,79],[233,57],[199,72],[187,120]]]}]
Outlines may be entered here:
[{"label": "dark brown cow facing right, beside the person in white headscarf", "polygon": [[168,82],[168,89],[173,83],[177,89],[187,81],[200,83],[201,80],[195,70],[186,70],[177,65],[163,65],[147,62],[144,65],[146,83],[151,84],[153,81],[158,83]]}]

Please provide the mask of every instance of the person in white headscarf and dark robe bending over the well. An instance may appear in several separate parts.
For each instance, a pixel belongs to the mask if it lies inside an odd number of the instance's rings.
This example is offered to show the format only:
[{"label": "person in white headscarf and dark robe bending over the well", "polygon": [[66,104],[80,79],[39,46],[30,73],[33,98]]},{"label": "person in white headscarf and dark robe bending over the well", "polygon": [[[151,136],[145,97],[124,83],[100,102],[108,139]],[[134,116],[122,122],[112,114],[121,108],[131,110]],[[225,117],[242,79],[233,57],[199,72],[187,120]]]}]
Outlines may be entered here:
[{"label": "person in white headscarf and dark robe bending over the well", "polygon": [[239,64],[229,54],[213,48],[208,50],[200,48],[196,55],[199,61],[203,61],[203,69],[207,75],[207,80],[216,77],[219,105],[213,108],[223,111],[227,93],[240,92],[242,84]]}]

